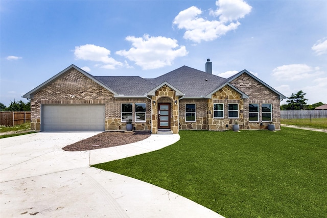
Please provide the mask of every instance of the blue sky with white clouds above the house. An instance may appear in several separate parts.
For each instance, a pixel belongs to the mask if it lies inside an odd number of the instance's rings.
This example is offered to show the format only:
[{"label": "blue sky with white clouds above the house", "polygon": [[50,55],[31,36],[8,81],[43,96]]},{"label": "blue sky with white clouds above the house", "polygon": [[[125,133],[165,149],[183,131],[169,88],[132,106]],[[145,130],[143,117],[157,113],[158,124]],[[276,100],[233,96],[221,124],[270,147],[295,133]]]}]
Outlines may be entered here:
[{"label": "blue sky with white clouds above the house", "polygon": [[[327,103],[327,1],[0,1],[0,102],[71,64],[155,78],[183,65],[247,69],[290,96]],[[282,104],[285,103],[285,100]]]}]

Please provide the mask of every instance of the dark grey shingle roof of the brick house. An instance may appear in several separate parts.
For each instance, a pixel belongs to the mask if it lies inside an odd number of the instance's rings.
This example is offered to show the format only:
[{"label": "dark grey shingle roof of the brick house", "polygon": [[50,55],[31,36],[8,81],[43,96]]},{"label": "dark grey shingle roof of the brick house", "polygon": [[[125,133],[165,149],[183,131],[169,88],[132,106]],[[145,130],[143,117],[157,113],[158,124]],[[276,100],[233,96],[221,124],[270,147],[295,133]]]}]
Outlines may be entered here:
[{"label": "dark grey shingle roof of the brick house", "polygon": [[[23,97],[33,98],[34,93],[36,93],[44,86],[49,85],[62,74],[71,70],[72,68],[79,70],[86,77],[90,78],[91,80],[94,80],[96,83],[103,86],[116,96],[145,96],[146,93],[149,93],[149,91],[153,91],[157,86],[166,82],[169,85],[173,86],[173,88],[178,90],[179,94],[184,94],[185,98],[203,97],[208,95],[209,93],[212,93],[224,84],[228,85],[230,81],[234,80],[245,72],[254,79],[261,82],[262,84],[266,85],[275,93],[279,94],[281,99],[286,98],[284,95],[277,92],[263,81],[254,77],[246,70],[243,70],[238,74],[228,79],[225,79],[216,75],[207,74],[204,71],[197,70],[188,66],[182,66],[160,77],[153,79],[145,79],[138,76],[92,76],[73,64],[59,72],[59,74],[55,75],[51,79],[37,86],[30,92],[26,93]],[[243,96],[247,97],[245,93],[242,94]]]}]

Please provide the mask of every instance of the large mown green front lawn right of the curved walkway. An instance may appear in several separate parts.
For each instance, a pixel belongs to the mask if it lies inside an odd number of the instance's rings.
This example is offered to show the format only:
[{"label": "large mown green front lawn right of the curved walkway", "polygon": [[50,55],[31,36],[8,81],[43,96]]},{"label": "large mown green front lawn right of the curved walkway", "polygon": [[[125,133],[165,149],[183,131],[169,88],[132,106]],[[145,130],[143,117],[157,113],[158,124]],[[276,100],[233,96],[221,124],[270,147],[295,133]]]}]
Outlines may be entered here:
[{"label": "large mown green front lawn right of the curved walkway", "polygon": [[326,217],[327,134],[180,131],[159,151],[97,164],[225,217]]}]

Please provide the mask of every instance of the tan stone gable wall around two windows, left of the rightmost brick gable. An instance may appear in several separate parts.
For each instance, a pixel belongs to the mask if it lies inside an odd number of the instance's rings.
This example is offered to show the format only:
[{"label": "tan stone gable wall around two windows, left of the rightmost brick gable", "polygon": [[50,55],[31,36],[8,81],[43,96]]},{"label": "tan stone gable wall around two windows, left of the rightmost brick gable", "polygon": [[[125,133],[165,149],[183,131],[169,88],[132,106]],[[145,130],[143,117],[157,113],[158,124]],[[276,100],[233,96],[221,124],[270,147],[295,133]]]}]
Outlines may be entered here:
[{"label": "tan stone gable wall around two windows, left of the rightmost brick gable", "polygon": [[[224,118],[214,118],[214,104],[224,104]],[[228,118],[228,104],[234,103],[239,105],[239,118]],[[212,99],[208,99],[207,116],[208,116],[208,130],[231,130],[232,124],[235,121],[240,125],[240,129],[244,126],[244,100],[242,95],[230,86],[226,85],[212,94]]]}]

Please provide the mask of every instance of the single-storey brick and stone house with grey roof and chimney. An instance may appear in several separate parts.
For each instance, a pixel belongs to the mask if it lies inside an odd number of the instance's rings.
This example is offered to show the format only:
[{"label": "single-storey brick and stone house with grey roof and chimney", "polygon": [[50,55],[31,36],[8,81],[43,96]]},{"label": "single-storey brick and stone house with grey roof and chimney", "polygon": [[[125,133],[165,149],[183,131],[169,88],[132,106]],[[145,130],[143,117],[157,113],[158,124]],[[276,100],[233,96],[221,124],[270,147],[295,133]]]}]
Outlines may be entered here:
[{"label": "single-storey brick and stone house with grey roof and chimney", "polygon": [[31,130],[280,130],[280,101],[286,97],[242,70],[230,78],[182,66],[153,79],[92,76],[71,65],[23,97],[31,99]]}]

